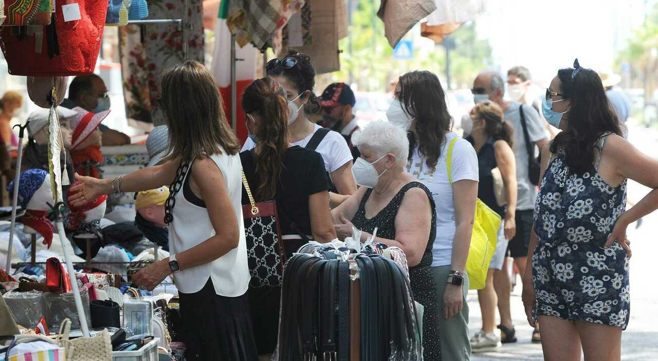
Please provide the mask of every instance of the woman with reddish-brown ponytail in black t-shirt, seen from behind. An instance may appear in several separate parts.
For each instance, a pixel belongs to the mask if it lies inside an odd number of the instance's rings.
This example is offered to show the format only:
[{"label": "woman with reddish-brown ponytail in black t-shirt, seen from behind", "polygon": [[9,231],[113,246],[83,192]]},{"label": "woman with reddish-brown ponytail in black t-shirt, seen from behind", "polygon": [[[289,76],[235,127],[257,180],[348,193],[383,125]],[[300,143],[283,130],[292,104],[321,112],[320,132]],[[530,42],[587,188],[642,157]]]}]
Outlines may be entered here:
[{"label": "woman with reddish-brown ponytail in black t-shirt, seen from behind", "polygon": [[[286,256],[309,239],[324,243],[336,238],[322,155],[291,144],[286,90],[273,78],[255,80],[242,95],[242,109],[252,138],[257,138],[255,148],[240,153],[245,177],[256,202],[276,201]],[[249,204],[245,190],[242,204]],[[280,287],[249,289],[261,355],[276,347],[280,298]]]}]

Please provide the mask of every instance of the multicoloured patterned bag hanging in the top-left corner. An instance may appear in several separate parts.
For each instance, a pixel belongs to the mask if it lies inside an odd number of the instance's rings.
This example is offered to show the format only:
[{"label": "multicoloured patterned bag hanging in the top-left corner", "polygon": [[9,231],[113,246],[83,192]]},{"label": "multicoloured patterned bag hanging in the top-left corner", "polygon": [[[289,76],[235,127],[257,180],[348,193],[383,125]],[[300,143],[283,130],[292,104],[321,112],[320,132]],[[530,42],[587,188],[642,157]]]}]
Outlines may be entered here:
[{"label": "multicoloured patterned bag hanging in the top-left corner", "polygon": [[[0,5],[2,5],[0,1]],[[52,0],[4,0],[3,11],[7,21],[4,26],[49,25]]]}]

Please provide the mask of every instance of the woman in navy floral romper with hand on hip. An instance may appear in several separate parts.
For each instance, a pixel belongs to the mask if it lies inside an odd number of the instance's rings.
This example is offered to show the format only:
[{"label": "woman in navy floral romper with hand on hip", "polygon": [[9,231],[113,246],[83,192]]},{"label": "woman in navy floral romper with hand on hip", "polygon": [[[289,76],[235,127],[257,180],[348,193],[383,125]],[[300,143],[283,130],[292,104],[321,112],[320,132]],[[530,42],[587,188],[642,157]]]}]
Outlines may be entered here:
[{"label": "woman in navy floral romper with hand on hip", "polygon": [[[658,161],[622,136],[599,76],[561,69],[543,105],[563,132],[542,152],[542,184],[523,277],[530,325],[542,323],[545,360],[620,360],[628,325],[626,227],[658,208]],[[653,190],[625,211],[626,182]]]}]

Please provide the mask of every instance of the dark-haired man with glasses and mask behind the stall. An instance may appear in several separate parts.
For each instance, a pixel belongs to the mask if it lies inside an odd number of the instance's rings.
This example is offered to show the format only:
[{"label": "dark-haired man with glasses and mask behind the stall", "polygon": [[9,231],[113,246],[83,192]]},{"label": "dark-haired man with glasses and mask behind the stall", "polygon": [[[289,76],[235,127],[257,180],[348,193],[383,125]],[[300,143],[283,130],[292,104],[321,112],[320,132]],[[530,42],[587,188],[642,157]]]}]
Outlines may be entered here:
[{"label": "dark-haired man with glasses and mask behind the stall", "polygon": [[[110,109],[110,97],[103,79],[96,74],[80,75],[73,78],[68,86],[68,98],[64,99],[62,106],[68,109],[81,107],[91,113],[100,113]],[[101,142],[103,146],[123,146],[130,144],[130,136],[100,125],[103,132]]]}]

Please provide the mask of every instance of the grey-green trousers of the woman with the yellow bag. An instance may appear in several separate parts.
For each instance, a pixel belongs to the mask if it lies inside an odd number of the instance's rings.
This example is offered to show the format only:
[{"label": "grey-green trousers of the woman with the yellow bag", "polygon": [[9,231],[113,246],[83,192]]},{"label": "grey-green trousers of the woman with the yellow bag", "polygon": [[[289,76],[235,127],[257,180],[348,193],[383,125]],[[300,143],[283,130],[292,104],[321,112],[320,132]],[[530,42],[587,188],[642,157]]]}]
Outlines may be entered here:
[{"label": "grey-green trousers of the woman with the yellow bag", "polygon": [[470,360],[470,341],[468,341],[468,276],[465,276],[463,289],[463,308],[459,314],[445,319],[443,318],[443,291],[450,273],[449,265],[432,267],[432,275],[436,281],[439,292],[439,327],[441,334],[441,358],[449,361]]}]

